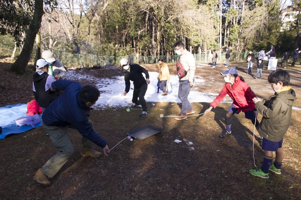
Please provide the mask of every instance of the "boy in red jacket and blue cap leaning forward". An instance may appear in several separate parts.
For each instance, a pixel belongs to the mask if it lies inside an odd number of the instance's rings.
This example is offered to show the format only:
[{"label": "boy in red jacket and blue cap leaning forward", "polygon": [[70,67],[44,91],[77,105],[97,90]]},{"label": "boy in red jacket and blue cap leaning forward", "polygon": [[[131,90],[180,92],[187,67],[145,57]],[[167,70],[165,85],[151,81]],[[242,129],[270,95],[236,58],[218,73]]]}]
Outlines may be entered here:
[{"label": "boy in red jacket and blue cap leaning forward", "polygon": [[251,119],[253,124],[255,124],[256,121],[257,127],[259,122],[257,121],[254,113],[255,103],[252,101],[256,95],[251,90],[248,83],[244,82],[243,77],[238,76],[238,72],[235,68],[228,68],[224,72],[221,72],[221,75],[225,76],[224,79],[226,83],[224,84],[221,92],[204,113],[204,115],[206,115],[213,107],[215,108],[221,100],[223,100],[226,94],[233,99],[233,103],[226,113],[226,130],[224,130],[219,137],[231,135],[231,117],[234,113],[238,114],[240,111],[243,111],[245,113],[245,117],[247,119]]}]

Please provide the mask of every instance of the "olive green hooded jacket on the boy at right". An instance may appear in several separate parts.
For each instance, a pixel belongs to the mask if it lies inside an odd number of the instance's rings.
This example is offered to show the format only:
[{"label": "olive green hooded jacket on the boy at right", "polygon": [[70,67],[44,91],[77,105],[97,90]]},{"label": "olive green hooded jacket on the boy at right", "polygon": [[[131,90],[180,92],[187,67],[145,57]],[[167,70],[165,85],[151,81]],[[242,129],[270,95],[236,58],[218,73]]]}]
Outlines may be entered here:
[{"label": "olive green hooded jacket on the boy at right", "polygon": [[290,86],[275,92],[269,100],[258,101],[257,111],[262,114],[262,120],[257,126],[258,132],[267,140],[280,141],[291,121],[292,103],[297,99]]}]

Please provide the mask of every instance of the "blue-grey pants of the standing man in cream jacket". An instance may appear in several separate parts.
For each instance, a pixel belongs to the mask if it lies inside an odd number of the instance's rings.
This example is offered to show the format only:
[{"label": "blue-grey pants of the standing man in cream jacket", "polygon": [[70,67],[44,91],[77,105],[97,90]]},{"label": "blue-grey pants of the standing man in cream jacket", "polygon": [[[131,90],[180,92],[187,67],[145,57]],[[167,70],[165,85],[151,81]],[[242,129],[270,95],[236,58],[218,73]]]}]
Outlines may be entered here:
[{"label": "blue-grey pants of the standing man in cream jacket", "polygon": [[180,80],[178,97],[182,101],[181,114],[186,114],[187,110],[193,110],[193,107],[188,100],[190,89],[191,86],[189,85],[188,80]]}]

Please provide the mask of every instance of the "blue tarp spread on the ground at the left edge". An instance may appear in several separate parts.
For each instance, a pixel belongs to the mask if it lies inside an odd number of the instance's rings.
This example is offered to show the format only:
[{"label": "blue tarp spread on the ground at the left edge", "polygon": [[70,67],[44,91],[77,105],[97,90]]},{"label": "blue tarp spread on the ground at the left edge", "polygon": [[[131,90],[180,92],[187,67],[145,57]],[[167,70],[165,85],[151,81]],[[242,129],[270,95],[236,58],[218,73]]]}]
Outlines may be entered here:
[{"label": "blue tarp spread on the ground at the left edge", "polygon": [[31,125],[18,126],[15,119],[26,116],[27,104],[14,104],[0,107],[0,126],[2,126],[3,132],[0,133],[0,139],[5,138],[8,134],[17,134],[33,129],[35,127],[42,126],[42,122]]}]

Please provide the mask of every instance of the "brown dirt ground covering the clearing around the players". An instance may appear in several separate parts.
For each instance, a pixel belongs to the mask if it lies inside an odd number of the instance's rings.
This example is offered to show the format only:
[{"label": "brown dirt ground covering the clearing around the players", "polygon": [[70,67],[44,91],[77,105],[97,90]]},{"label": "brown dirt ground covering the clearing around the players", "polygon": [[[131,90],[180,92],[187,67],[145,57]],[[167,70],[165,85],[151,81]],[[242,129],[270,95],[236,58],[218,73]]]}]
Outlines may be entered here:
[{"label": "brown dirt ground covering the clearing around the players", "polygon": [[[9,71],[11,61],[0,60],[0,106],[27,103],[33,99],[32,74]],[[273,93],[263,70],[262,79],[246,73],[245,63],[231,63],[259,97]],[[144,65],[157,71],[156,65]],[[171,74],[176,74],[173,64]],[[30,68],[30,67],[29,67]],[[198,90],[219,93],[224,84],[219,73],[226,67],[218,64],[198,67],[196,75],[206,81]],[[297,98],[300,91],[301,66],[288,67]],[[99,77],[120,75],[115,69],[82,69],[78,73]],[[256,68],[253,68],[256,73]],[[214,78],[215,81],[212,81]],[[82,81],[83,84],[95,84]],[[122,91],[120,91],[121,93]],[[301,140],[300,111],[293,110],[292,121],[284,136],[285,152],[281,174],[270,172],[269,179],[252,176],[248,170],[259,168],[263,151],[258,132],[244,118],[234,115],[233,134],[219,138],[225,129],[224,115],[229,103],[220,103],[206,116],[177,121],[160,118],[160,114],[178,114],[180,104],[148,102],[149,114],[139,117],[140,109],[127,112],[122,107],[107,107],[91,111],[94,129],[107,140],[111,148],[126,136],[126,132],[143,125],[158,124],[163,131],[145,140],[122,141],[109,156],[81,157],[81,135],[69,129],[74,154],[51,179],[51,186],[40,185],[33,176],[37,169],[56,153],[49,136],[42,127],[24,133],[8,135],[0,140],[0,196],[1,199],[300,199],[301,196]],[[210,103],[193,103],[197,113],[203,113]],[[294,106],[301,107],[298,98]],[[261,115],[258,116],[258,120]],[[175,139],[182,140],[180,143]],[[189,142],[192,142],[189,143]],[[95,149],[101,148],[94,145]]]}]

